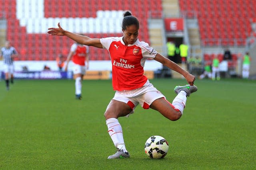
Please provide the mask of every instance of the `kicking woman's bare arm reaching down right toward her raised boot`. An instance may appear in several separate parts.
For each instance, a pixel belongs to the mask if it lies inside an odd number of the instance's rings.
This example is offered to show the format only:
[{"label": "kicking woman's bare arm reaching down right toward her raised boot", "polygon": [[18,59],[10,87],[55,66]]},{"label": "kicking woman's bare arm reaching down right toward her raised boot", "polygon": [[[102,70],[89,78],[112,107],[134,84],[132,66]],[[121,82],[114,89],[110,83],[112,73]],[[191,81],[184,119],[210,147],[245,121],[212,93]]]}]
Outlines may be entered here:
[{"label": "kicking woman's bare arm reaching down right toward her raised boot", "polygon": [[194,81],[196,79],[195,76],[190,74],[183,68],[181,68],[178,64],[174,63],[173,61],[170,61],[169,59],[167,59],[166,57],[162,56],[159,53],[157,53],[154,60],[156,60],[156,61],[162,63],[164,66],[167,66],[168,68],[182,74],[186,78],[188,84],[190,84],[191,86],[194,85]]}]

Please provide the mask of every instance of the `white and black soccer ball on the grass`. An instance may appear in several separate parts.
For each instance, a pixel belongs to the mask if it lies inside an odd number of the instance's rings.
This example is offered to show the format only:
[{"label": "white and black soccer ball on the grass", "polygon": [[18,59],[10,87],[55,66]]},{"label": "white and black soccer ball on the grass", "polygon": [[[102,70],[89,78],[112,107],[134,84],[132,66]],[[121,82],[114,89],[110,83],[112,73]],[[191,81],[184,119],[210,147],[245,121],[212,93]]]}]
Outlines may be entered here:
[{"label": "white and black soccer ball on the grass", "polygon": [[169,144],[161,136],[152,136],[146,141],[144,149],[150,158],[164,158],[168,152]]}]

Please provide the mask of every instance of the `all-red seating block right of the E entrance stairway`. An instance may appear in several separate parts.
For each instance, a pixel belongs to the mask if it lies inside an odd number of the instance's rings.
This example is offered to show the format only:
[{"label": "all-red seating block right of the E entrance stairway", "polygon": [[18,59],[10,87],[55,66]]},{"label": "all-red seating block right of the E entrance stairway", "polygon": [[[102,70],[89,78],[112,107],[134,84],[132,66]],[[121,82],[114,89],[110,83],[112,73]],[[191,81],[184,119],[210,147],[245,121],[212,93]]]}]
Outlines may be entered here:
[{"label": "all-red seating block right of the E entrance stairway", "polygon": [[[179,0],[181,12],[195,12],[203,45],[244,46],[256,17],[253,0]],[[189,17],[189,16],[188,16]]]}]

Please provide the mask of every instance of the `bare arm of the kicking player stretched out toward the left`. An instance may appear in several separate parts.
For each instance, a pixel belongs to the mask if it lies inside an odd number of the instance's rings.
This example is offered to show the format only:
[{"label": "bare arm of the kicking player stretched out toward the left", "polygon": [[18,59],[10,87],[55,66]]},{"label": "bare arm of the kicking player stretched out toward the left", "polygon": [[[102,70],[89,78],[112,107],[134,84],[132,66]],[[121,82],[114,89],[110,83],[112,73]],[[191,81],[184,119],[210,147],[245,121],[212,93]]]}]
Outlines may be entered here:
[{"label": "bare arm of the kicking player stretched out toward the left", "polygon": [[64,30],[61,26],[60,23],[58,23],[58,28],[48,28],[48,34],[51,35],[59,35],[59,36],[67,36],[70,39],[73,39],[74,41],[80,43],[80,44],[84,44],[84,45],[89,45],[89,46],[94,46],[97,48],[103,48],[101,43],[100,43],[100,39],[98,38],[90,38],[84,35],[79,35],[79,34],[75,34],[69,31]]}]

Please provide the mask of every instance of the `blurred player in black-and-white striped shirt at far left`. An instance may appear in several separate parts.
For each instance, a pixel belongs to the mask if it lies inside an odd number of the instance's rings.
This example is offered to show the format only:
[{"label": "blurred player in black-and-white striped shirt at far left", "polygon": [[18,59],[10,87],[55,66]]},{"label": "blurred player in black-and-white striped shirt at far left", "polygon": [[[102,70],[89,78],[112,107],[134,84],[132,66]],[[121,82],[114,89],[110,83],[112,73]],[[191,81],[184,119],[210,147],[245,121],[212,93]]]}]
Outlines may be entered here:
[{"label": "blurred player in black-and-white striped shirt at far left", "polygon": [[4,74],[6,82],[6,90],[9,90],[9,77],[10,82],[13,84],[14,81],[14,57],[17,57],[18,53],[14,47],[10,45],[10,41],[6,41],[5,47],[2,47],[0,58],[4,59]]}]

